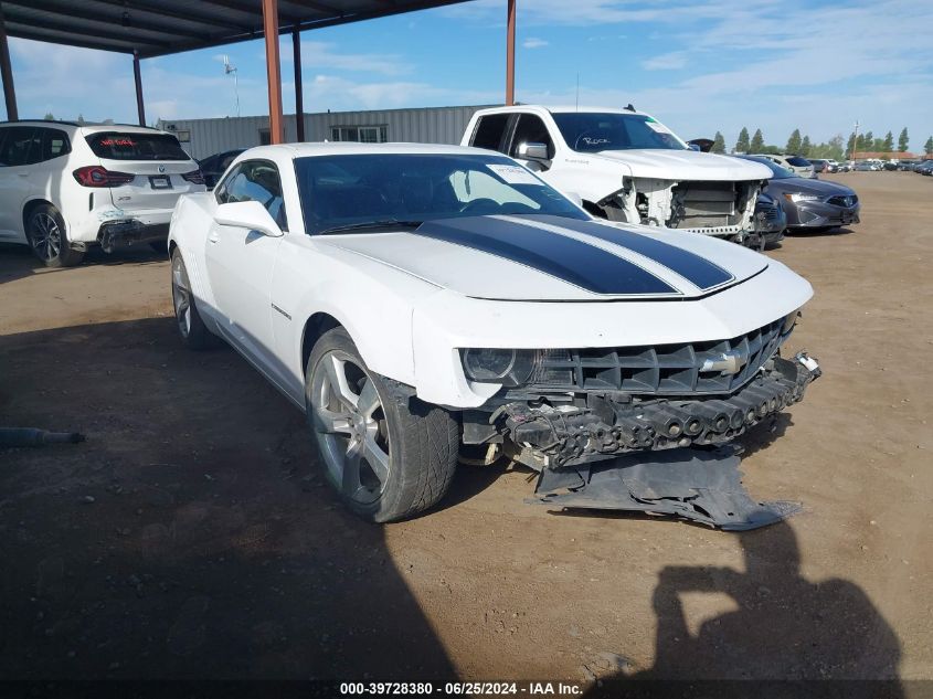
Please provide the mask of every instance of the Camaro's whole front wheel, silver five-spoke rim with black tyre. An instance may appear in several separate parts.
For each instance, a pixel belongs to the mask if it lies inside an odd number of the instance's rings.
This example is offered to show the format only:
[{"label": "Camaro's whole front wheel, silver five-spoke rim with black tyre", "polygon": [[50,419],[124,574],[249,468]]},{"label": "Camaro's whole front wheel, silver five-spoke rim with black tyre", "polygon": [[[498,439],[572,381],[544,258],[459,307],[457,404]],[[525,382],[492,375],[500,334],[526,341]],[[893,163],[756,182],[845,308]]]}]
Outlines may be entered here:
[{"label": "Camaro's whole front wheel, silver five-spoke rim with black tyre", "polygon": [[459,428],[445,410],[370,371],[343,328],[317,341],[305,373],[308,425],[327,478],[359,517],[390,522],[439,500]]}]

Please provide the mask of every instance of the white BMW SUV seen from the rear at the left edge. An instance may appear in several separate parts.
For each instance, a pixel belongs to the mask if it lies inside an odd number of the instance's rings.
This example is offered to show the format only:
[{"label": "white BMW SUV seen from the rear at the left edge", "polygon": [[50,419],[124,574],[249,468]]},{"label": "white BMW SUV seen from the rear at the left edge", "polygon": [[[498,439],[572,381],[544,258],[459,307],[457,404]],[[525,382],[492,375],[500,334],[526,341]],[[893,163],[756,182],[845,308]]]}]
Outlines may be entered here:
[{"label": "white BMW SUV seen from the rear at the left edge", "polygon": [[165,246],[176,201],[204,191],[198,163],[171,134],[124,125],[0,124],[0,242],[50,267],[105,252]]}]

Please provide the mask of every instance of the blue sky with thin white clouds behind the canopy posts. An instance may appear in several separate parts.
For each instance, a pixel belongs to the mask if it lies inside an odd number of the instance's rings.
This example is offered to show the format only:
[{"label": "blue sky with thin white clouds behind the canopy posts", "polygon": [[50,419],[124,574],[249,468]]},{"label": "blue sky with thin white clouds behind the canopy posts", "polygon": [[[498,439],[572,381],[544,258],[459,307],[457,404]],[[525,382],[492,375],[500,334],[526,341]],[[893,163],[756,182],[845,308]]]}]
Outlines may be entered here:
[{"label": "blue sky with thin white clouds behind the canopy posts", "polygon": [[[303,34],[305,110],[500,103],[506,0],[409,13]],[[783,145],[907,126],[911,148],[933,134],[930,0],[518,0],[517,98],[650,112],[685,138],[762,128]],[[132,121],[123,54],[11,39],[21,117]],[[261,42],[142,62],[147,118],[266,113]],[[286,110],[294,109],[290,39],[283,40]],[[0,105],[2,112],[2,105]]]}]

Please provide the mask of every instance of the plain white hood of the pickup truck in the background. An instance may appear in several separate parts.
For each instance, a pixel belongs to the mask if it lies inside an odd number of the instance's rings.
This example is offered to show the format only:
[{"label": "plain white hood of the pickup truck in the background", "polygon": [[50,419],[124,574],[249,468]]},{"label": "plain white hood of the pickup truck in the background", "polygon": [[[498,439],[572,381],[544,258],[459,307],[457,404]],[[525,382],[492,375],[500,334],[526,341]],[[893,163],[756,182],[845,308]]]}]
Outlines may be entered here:
[{"label": "plain white hood of the pickup truck in the background", "polygon": [[659,180],[766,180],[771,170],[761,162],[696,150],[603,150],[594,157],[622,162],[632,177]]}]

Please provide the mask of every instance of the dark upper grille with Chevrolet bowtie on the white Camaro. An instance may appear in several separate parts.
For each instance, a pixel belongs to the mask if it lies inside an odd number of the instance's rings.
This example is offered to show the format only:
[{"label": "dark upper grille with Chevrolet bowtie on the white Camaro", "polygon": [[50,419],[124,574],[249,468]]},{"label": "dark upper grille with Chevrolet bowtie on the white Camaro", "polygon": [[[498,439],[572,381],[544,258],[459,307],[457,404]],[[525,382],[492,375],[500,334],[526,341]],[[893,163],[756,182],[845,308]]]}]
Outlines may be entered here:
[{"label": "dark upper grille with Chevrolet bowtie on the white Camaro", "polygon": [[[781,345],[783,320],[730,340],[580,350],[543,350],[531,383],[536,389],[629,393],[729,393],[750,381]],[[786,336],[784,336],[786,337]],[[738,373],[702,371],[706,360],[738,351]]]}]

